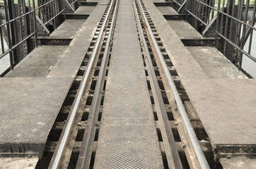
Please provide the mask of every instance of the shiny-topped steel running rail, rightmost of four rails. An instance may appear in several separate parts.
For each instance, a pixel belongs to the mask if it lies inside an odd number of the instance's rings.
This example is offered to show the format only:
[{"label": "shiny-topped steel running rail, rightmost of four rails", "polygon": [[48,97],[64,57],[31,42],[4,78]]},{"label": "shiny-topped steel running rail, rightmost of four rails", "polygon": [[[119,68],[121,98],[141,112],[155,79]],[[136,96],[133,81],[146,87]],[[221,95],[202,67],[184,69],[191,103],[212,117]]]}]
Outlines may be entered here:
[{"label": "shiny-topped steel running rail, rightmost of four rails", "polygon": [[198,142],[198,139],[197,139],[197,135],[194,133],[194,129],[192,127],[192,124],[190,123],[190,119],[188,118],[187,116],[187,112],[185,111],[185,107],[184,105],[182,104],[182,100],[180,99],[180,95],[178,93],[178,89],[176,88],[175,86],[175,83],[173,82],[173,79],[170,75],[170,72],[168,70],[168,66],[166,65],[165,63],[165,60],[163,58],[163,55],[161,54],[161,51],[158,47],[158,43],[156,42],[156,39],[153,35],[153,32],[151,30],[151,26],[149,25],[149,21],[148,19],[146,18],[146,14],[144,12],[144,9],[141,5],[141,1],[140,0],[137,0],[139,2],[139,7],[141,8],[141,12],[142,12],[142,15],[144,17],[144,21],[146,23],[146,26],[148,27],[149,29],[149,34],[151,36],[151,39],[153,40],[153,44],[156,48],[156,52],[158,54],[158,57],[160,58],[161,60],[161,63],[162,63],[162,66],[163,66],[163,70],[165,72],[165,76],[167,77],[167,80],[168,80],[168,83],[170,85],[170,89],[171,91],[173,92],[173,97],[176,101],[176,104],[177,104],[177,107],[178,107],[178,111],[180,113],[180,116],[182,118],[182,122],[185,126],[185,130],[187,132],[187,135],[190,139],[190,142],[192,144],[192,149],[194,151],[194,155],[197,157],[197,161],[199,163],[199,167],[200,168],[209,168],[209,164],[207,163],[206,161],[206,158],[204,156],[204,153],[201,149],[201,146]]}]

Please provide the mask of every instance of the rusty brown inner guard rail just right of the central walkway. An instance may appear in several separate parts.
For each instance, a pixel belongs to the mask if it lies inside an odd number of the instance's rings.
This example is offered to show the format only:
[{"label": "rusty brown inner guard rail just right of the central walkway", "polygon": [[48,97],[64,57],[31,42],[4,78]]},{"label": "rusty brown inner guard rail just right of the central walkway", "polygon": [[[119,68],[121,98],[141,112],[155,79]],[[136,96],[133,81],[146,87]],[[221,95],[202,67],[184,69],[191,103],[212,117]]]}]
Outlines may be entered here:
[{"label": "rusty brown inner guard rail just right of the central walkway", "polygon": [[157,99],[156,100],[154,99],[154,101],[155,101],[156,106],[158,106],[160,108],[160,111],[161,111],[160,115],[159,115],[160,117],[158,118],[158,120],[161,123],[161,129],[164,130],[164,131],[161,130],[161,132],[163,132],[163,134],[162,134],[163,139],[165,139],[165,140],[167,139],[166,140],[167,142],[164,142],[164,146],[166,146],[165,147],[165,154],[166,154],[166,158],[168,160],[168,167],[169,168],[179,168],[179,169],[181,169],[182,168],[182,163],[180,161],[180,155],[178,153],[178,149],[177,149],[177,146],[175,144],[175,139],[174,139],[174,136],[173,136],[172,128],[170,127],[170,122],[169,122],[168,115],[167,115],[167,112],[166,112],[166,109],[165,109],[165,104],[163,102],[163,97],[162,97],[161,90],[160,90],[160,87],[159,87],[159,84],[158,84],[158,80],[156,79],[156,73],[155,73],[155,70],[153,68],[153,63],[152,63],[151,56],[149,54],[149,49],[147,47],[146,38],[144,36],[144,32],[143,32],[143,29],[141,27],[141,23],[139,21],[139,12],[136,8],[135,0],[134,0],[134,11],[135,11],[135,15],[136,15],[136,20],[138,21],[139,32],[141,32],[141,39],[142,39],[142,42],[144,44],[144,49],[145,49],[145,52],[146,52],[147,60],[149,62],[149,68],[150,68],[151,77],[152,77],[152,80],[153,80],[152,92],[156,93],[154,95],[156,95],[156,97],[157,97]]}]

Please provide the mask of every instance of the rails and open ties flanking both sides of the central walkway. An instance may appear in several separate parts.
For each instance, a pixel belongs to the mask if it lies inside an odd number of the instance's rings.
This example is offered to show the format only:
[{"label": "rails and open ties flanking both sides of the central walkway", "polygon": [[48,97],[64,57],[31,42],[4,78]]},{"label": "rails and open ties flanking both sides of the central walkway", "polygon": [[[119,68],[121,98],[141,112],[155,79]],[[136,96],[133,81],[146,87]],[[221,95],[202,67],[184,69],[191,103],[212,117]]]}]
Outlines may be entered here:
[{"label": "rails and open ties flanking both sides of the central walkway", "polygon": [[[107,6],[37,168],[95,167],[120,3],[113,0]],[[132,1],[132,8],[163,168],[221,168],[202,123],[187,115],[193,113],[190,99],[143,2]]]}]

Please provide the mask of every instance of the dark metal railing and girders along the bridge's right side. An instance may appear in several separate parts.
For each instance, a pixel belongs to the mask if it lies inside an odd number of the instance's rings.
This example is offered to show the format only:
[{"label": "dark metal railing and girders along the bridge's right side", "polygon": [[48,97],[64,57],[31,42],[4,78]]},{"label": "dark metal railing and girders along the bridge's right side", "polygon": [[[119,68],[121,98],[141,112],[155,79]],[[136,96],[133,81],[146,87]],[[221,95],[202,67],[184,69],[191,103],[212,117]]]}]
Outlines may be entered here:
[{"label": "dark metal railing and girders along the bridge's right side", "polygon": [[[238,68],[243,55],[256,62],[252,56],[252,36],[255,27],[254,0],[172,0],[179,13],[187,13],[201,26],[202,35],[211,29],[216,39],[221,38],[221,51]],[[214,28],[213,28],[214,27]],[[198,27],[196,27],[198,28]],[[213,30],[214,29],[214,30]],[[245,49],[245,44],[247,49]]]}]

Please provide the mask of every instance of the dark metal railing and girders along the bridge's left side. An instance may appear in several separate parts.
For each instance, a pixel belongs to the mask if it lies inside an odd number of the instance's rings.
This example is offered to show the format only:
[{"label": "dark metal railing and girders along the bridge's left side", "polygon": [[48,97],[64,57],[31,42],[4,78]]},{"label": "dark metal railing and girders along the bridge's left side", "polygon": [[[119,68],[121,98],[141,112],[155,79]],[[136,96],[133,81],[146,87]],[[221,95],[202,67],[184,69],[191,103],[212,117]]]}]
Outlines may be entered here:
[{"label": "dark metal railing and girders along the bridge's left side", "polygon": [[13,70],[37,46],[37,35],[50,35],[60,24],[60,15],[76,8],[78,0],[4,0],[0,4],[0,59],[9,56]]}]

